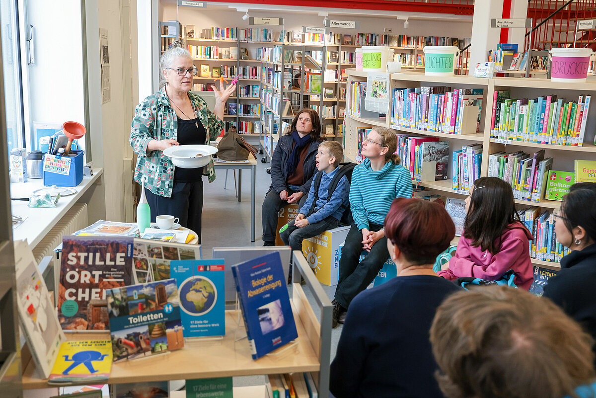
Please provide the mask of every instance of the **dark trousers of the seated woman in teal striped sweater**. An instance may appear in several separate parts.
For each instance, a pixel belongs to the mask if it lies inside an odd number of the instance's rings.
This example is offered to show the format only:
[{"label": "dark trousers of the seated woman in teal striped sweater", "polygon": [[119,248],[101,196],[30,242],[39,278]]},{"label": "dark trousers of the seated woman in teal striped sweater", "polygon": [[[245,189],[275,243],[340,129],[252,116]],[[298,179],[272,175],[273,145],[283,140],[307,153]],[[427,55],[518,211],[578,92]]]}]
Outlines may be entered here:
[{"label": "dark trousers of the seated woman in teal striped sweater", "polygon": [[[378,231],[382,225],[370,224],[369,231]],[[342,248],[342,257],[339,260],[339,280],[335,299],[343,307],[349,307],[356,294],[365,290],[373,282],[383,264],[389,259],[387,238],[378,240],[371,248],[368,256],[361,262],[358,261],[362,253],[362,232],[352,224],[347,232],[346,242]]]}]

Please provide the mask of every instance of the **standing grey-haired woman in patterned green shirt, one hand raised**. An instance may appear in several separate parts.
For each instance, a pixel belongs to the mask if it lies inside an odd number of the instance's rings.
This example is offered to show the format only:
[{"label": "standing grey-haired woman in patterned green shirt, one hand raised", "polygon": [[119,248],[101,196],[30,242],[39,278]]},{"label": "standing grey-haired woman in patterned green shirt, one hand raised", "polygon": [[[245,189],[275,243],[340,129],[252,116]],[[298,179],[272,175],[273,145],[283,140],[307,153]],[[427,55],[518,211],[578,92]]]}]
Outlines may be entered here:
[{"label": "standing grey-haired woman in patterned green shirt, one hand raised", "polygon": [[196,169],[176,168],[163,150],[173,145],[209,145],[224,129],[224,106],[235,85],[215,92],[215,107],[190,93],[197,68],[187,49],[173,46],[160,59],[160,91],[135,108],[130,142],[138,155],[135,181],[145,184],[151,221],[161,214],[180,219],[180,225],[197,232],[201,242],[203,179],[215,180],[213,161]]}]

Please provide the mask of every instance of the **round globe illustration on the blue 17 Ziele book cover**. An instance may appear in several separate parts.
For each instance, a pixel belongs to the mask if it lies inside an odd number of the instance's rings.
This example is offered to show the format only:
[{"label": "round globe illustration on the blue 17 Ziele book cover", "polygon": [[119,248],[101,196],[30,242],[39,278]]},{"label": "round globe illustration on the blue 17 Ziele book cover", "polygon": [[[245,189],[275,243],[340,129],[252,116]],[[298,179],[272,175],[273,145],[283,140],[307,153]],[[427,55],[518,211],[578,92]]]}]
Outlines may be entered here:
[{"label": "round globe illustration on the blue 17 Ziele book cover", "polygon": [[182,310],[193,316],[205,315],[218,300],[215,284],[204,276],[191,276],[180,285]]}]

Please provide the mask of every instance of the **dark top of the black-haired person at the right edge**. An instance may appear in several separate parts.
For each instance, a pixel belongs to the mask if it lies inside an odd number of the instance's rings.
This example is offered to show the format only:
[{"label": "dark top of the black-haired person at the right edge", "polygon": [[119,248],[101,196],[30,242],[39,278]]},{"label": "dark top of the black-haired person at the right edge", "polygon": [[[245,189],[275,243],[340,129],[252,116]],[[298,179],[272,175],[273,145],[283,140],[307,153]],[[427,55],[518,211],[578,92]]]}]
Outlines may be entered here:
[{"label": "dark top of the black-haired person at the right edge", "polygon": [[[573,250],[561,259],[561,270],[548,279],[544,297],[554,301],[596,339],[596,244]],[[592,350],[596,353],[596,346]]]}]

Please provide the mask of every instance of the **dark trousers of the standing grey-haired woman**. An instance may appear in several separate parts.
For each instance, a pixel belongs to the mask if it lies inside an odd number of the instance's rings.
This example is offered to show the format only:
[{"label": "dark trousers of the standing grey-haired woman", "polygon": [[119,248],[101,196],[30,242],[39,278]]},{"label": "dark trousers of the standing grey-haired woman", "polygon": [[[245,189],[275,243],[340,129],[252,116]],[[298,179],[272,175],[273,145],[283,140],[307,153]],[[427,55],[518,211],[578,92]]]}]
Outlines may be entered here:
[{"label": "dark trousers of the standing grey-haired woman", "polygon": [[[174,182],[172,196],[153,194],[145,189],[147,203],[151,209],[151,222],[156,216],[168,214],[178,217],[180,225],[192,229],[197,233],[198,243],[201,243],[201,224],[203,213],[203,181]],[[142,232],[142,231],[141,231]]]}]

